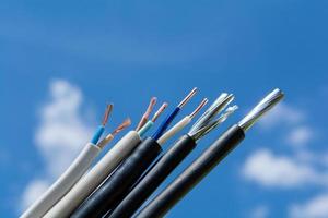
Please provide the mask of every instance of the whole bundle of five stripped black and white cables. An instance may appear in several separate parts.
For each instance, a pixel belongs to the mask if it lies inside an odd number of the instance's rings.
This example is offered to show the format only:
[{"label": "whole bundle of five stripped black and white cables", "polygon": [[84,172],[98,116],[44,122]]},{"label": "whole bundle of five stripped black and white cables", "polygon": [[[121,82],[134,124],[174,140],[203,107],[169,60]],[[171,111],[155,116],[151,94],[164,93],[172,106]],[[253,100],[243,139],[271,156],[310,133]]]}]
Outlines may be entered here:
[{"label": "whole bundle of five stripped black and white cables", "polygon": [[164,102],[150,119],[156,104],[156,98],[151,98],[136,130],[122,136],[91,168],[101,149],[131,123],[130,119],[126,119],[101,140],[113,109],[113,105],[108,105],[102,125],[96,130],[91,142],[21,218],[163,217],[244,140],[245,133],[262,114],[283,98],[281,90],[271,92],[244,119],[225,131],[167,187],[142,207],[160,184],[192,152],[199,141],[215,130],[238,108],[229,106],[234,100],[234,95],[221,94],[190,130],[162,154],[163,145],[184,130],[207,105],[208,99],[204,98],[190,114],[168,129],[196,93],[197,88],[194,88],[164,119],[152,136],[144,136],[167,107]]}]

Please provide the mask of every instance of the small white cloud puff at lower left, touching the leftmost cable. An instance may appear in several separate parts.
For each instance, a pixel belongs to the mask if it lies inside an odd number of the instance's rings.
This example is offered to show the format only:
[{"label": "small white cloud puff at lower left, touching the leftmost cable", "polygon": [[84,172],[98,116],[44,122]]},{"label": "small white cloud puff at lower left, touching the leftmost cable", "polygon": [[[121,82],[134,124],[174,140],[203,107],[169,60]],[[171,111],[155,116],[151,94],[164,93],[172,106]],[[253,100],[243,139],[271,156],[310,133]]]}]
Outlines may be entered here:
[{"label": "small white cloud puff at lower left, touching the leftmost cable", "polygon": [[37,197],[39,197],[47,189],[49,183],[46,180],[33,180],[23,193],[21,209],[27,208]]}]

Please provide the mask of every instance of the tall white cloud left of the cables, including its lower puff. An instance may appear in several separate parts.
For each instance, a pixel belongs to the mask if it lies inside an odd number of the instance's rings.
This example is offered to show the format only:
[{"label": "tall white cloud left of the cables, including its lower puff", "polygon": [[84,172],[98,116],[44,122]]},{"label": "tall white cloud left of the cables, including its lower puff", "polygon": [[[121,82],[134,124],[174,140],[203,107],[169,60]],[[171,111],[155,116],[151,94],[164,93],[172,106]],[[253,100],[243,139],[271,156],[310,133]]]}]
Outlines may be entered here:
[{"label": "tall white cloud left of the cables, including its lower puff", "polygon": [[44,178],[35,178],[26,186],[22,208],[34,202],[48,183],[69,166],[92,134],[92,126],[83,119],[81,90],[67,81],[50,83],[50,98],[39,110],[40,123],[35,142],[45,160]]}]

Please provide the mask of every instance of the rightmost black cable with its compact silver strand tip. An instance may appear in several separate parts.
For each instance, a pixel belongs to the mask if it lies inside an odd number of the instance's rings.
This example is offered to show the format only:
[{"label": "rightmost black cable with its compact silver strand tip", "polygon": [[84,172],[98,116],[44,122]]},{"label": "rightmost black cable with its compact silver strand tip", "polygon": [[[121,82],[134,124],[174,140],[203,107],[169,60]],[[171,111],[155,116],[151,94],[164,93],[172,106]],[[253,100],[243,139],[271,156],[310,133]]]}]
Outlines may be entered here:
[{"label": "rightmost black cable with its compact silver strand tip", "polygon": [[163,217],[245,137],[255,122],[283,98],[280,89],[265,97],[244,119],[225,131],[183,173],[138,213],[138,218]]}]

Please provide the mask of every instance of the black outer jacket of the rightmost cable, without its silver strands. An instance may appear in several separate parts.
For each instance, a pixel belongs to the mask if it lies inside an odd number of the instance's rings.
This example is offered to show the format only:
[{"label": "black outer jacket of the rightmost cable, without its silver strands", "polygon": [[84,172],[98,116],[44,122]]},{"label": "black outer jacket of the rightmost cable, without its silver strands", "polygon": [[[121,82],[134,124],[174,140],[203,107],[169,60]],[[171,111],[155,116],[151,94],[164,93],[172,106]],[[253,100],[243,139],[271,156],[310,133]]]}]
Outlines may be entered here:
[{"label": "black outer jacket of the rightmost cable, without its silver strands", "polygon": [[238,125],[224,132],[208,149],[206,149],[184,172],[164,191],[155,196],[136,217],[163,217],[195,185],[197,185],[233,148],[245,137]]}]

